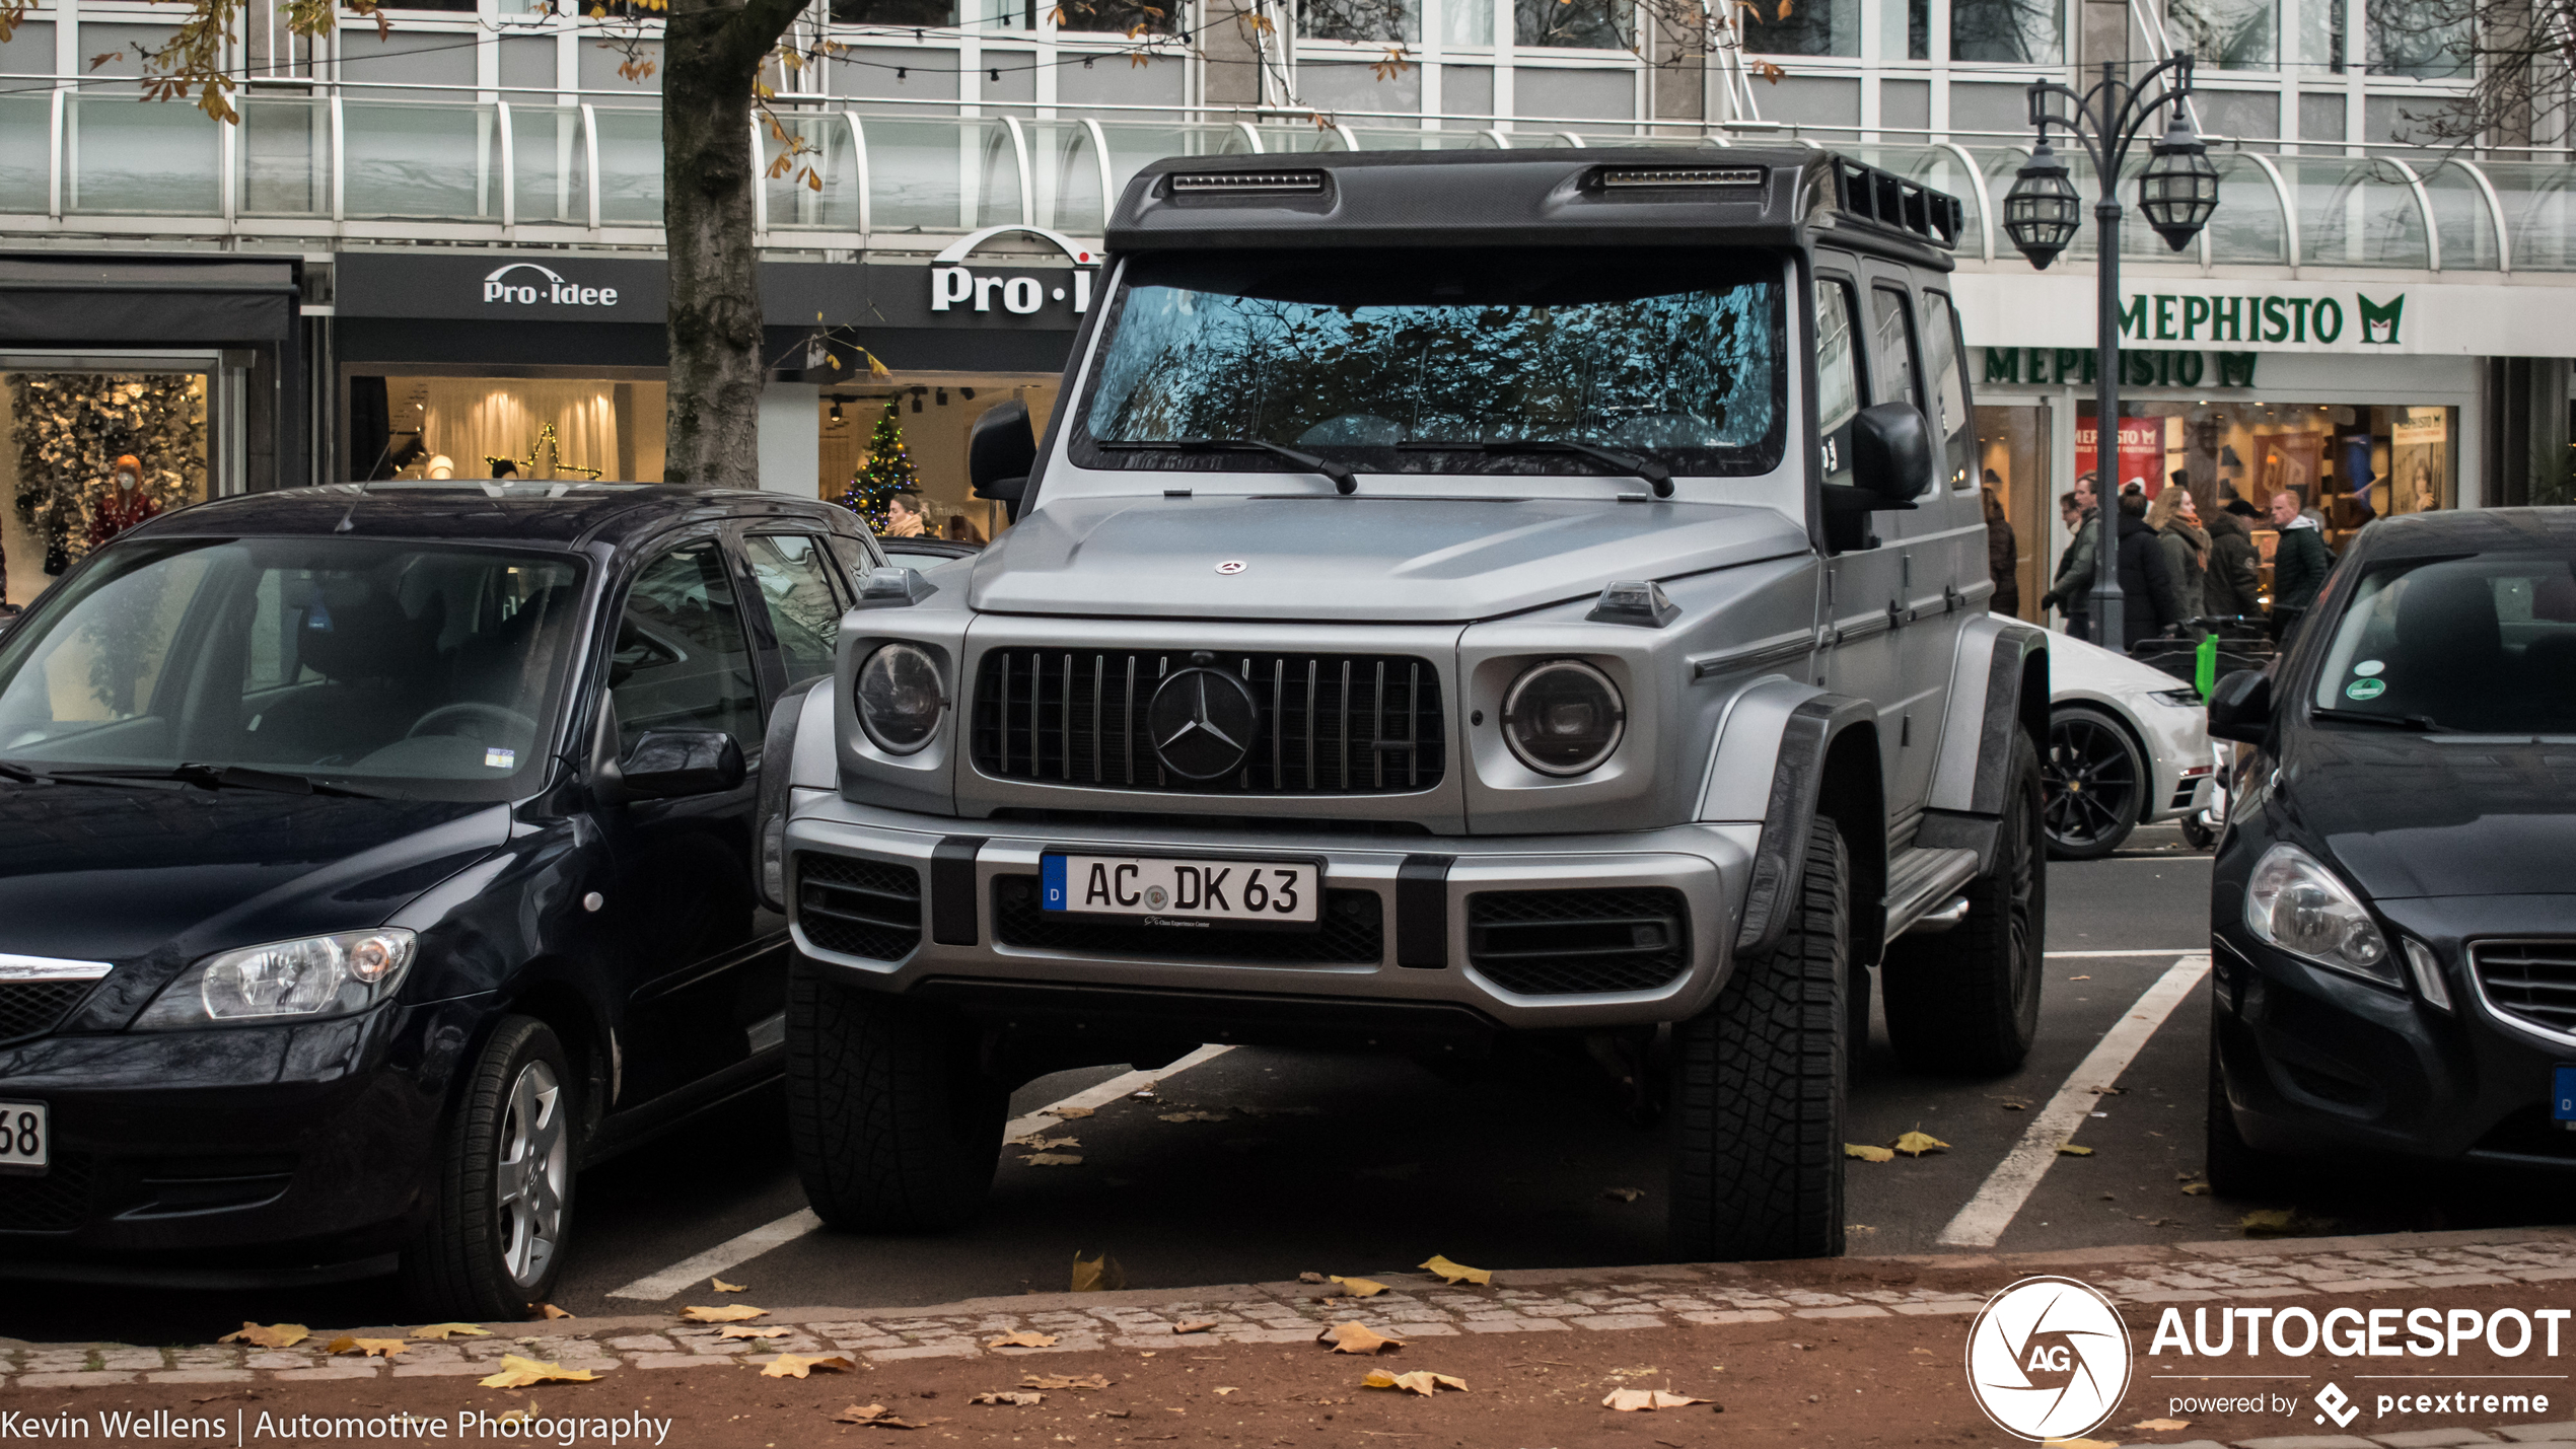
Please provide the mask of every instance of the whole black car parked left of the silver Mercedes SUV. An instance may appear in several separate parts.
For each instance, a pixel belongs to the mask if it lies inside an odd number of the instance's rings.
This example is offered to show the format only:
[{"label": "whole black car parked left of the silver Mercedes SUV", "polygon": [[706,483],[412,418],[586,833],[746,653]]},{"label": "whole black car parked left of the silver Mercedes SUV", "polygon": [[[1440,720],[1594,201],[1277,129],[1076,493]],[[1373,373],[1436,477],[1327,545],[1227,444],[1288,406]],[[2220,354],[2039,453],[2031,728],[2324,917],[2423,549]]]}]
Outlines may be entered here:
[{"label": "whole black car parked left of the silver Mercedes SUV", "polygon": [[0,1274],[544,1300],[574,1168],[781,1071],[765,723],[878,564],[837,507],[621,484],[255,494],[82,561],[0,636]]}]

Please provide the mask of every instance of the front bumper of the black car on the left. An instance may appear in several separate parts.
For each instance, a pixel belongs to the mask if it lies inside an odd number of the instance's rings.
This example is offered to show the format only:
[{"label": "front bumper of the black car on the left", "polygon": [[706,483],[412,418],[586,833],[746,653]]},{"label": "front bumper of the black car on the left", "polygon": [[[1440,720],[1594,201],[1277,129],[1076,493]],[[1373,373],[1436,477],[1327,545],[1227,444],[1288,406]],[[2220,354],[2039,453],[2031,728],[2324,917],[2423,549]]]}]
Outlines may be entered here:
[{"label": "front bumper of the black car on the left", "polygon": [[0,1176],[0,1277],[381,1271],[425,1210],[482,1014],[466,999],[0,1050],[0,1102],[44,1102],[54,1138],[44,1176]]}]

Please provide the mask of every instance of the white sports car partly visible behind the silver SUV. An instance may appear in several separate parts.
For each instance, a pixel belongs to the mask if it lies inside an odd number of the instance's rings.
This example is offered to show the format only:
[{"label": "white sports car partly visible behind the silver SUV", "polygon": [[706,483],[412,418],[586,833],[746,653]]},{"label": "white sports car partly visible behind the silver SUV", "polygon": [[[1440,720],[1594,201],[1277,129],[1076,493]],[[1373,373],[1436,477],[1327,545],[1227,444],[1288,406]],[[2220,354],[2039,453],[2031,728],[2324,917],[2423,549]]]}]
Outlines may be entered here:
[{"label": "white sports car partly visible behind the silver SUV", "polygon": [[[2048,641],[2048,852],[2099,860],[2128,831],[2210,808],[2208,713],[2182,679],[2081,638]],[[2197,834],[2195,844],[2208,844]]]}]

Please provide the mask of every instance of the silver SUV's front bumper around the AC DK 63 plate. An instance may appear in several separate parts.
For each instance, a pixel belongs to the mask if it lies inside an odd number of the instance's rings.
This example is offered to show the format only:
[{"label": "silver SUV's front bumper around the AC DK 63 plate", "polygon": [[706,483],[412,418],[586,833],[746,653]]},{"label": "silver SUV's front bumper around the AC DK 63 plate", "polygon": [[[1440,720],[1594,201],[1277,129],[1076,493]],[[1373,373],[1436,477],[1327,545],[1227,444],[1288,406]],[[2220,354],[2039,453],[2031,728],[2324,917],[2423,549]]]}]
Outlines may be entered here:
[{"label": "silver SUV's front bumper around the AC DK 63 plate", "polygon": [[[786,826],[791,927],[796,947],[853,986],[1010,996],[1036,991],[1066,1001],[1064,988],[1123,999],[1203,999],[1211,1017],[1311,1017],[1324,1004],[1352,1006],[1352,1019],[1435,1009],[1486,1027],[1561,1029],[1674,1022],[1698,1014],[1726,981],[1731,939],[1759,826],[1672,826],[1589,836],[1352,836],[1347,831],[1234,829],[1229,821],[956,821],[860,806],[835,793],[799,790]],[[1321,857],[1332,945],[1311,960],[1244,960],[1208,950],[1188,932],[1162,945],[1151,927],[1066,934],[1036,929],[1028,883],[1048,849],[1090,854],[1218,854]],[[809,891],[853,862],[889,888],[917,891],[920,927],[845,932],[809,921]],[[848,875],[845,875],[848,878]],[[1672,893],[1687,921],[1680,965],[1649,988],[1548,991],[1510,988],[1473,942],[1489,939],[1471,919],[1476,896],[1528,891]],[[1479,911],[1489,911],[1479,906]],[[1334,911],[1342,911],[1334,916]],[[837,927],[837,921],[835,921]],[[1370,934],[1373,932],[1373,934]],[[1043,945],[1041,945],[1043,942]],[[1525,973],[1515,975],[1522,986]],[[1069,1011],[1079,1017],[1079,1009]],[[1177,1011],[1188,1019],[1188,1006]]]}]

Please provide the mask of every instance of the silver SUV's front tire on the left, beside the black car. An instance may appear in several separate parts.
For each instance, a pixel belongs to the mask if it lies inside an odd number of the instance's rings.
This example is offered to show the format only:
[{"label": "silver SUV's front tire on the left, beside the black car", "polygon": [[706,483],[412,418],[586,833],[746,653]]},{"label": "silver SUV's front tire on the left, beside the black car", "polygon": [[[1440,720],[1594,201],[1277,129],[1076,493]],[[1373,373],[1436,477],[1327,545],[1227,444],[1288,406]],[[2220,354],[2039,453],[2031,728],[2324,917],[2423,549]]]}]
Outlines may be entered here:
[{"label": "silver SUV's front tire on the left, beside the black car", "polygon": [[832,1228],[922,1233],[974,1220],[1002,1161],[1010,1094],[953,1011],[853,991],[799,957],[788,981],[788,1145]]}]

